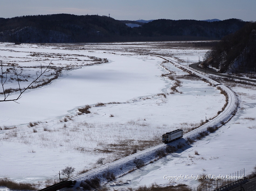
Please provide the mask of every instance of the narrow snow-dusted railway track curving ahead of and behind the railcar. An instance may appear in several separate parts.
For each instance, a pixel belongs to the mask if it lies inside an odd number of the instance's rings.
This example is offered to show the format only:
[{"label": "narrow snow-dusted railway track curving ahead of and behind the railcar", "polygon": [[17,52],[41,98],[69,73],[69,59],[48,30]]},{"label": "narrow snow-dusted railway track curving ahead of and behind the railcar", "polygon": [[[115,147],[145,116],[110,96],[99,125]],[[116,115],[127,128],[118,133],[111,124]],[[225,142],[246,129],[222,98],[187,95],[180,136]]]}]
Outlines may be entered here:
[{"label": "narrow snow-dusted railway track curving ahead of and behind the railcar", "polygon": [[[151,55],[151,56],[157,56],[157,57],[160,57],[160,58],[162,58],[162,59],[164,59],[164,60],[170,60],[174,65],[177,65],[178,67],[185,68],[186,70],[189,70],[189,71],[195,73],[196,75],[198,75],[198,76],[200,76],[200,77],[202,77],[202,78],[205,78],[205,79],[209,80],[210,82],[213,82],[213,83],[215,83],[215,84],[219,84],[219,82],[216,82],[215,80],[212,80],[212,79],[210,79],[210,78],[208,78],[208,77],[206,77],[206,76],[204,76],[204,75],[202,75],[202,74],[199,74],[198,72],[196,72],[196,71],[194,71],[194,70],[192,70],[192,69],[189,69],[189,68],[187,68],[187,67],[181,65],[181,64],[175,62],[174,60],[172,60],[171,58],[162,57],[162,56],[158,56],[158,55]],[[227,95],[228,95],[228,97],[229,97],[229,99],[228,99],[228,104],[227,104],[226,108],[224,109],[224,111],[221,112],[221,113],[220,113],[217,117],[215,117],[214,119],[212,119],[212,120],[210,120],[209,122],[207,122],[206,124],[200,126],[199,128],[196,128],[196,129],[193,130],[193,131],[190,131],[190,132],[184,134],[183,137],[186,138],[186,137],[189,137],[189,136],[192,136],[192,135],[196,135],[197,132],[200,132],[201,130],[206,129],[207,127],[210,127],[210,126],[216,124],[217,122],[220,122],[220,121],[222,121],[222,120],[225,120],[228,116],[230,116],[230,113],[233,112],[234,105],[236,104],[236,101],[237,101],[236,95],[235,95],[235,94],[233,93],[233,91],[231,91],[228,87],[226,87],[226,86],[224,86],[224,85],[218,85],[218,86],[220,86],[223,90],[225,90],[226,93],[227,93]],[[104,169],[108,168],[108,167],[111,166],[111,165],[115,165],[115,164],[117,164],[117,163],[121,163],[121,162],[126,161],[126,160],[134,159],[136,156],[143,155],[144,153],[147,153],[147,152],[152,151],[152,150],[156,150],[156,149],[158,149],[158,148],[161,148],[161,147],[164,146],[164,145],[165,145],[165,144],[160,144],[160,145],[156,145],[156,146],[153,146],[153,147],[151,147],[151,148],[148,148],[148,149],[139,151],[139,152],[134,153],[134,154],[132,154],[132,155],[123,157],[123,158],[121,158],[121,159],[119,159],[119,160],[116,160],[116,161],[113,161],[113,162],[104,164],[104,165],[102,165],[102,166],[100,166],[100,167],[97,167],[97,168],[94,168],[94,169],[92,169],[92,170],[90,170],[90,171],[87,171],[87,172],[85,172],[85,173],[83,173],[83,174],[80,174],[80,175],[71,177],[71,178],[69,178],[69,179],[67,179],[67,180],[65,180],[65,181],[63,181],[63,182],[60,182],[60,183],[57,183],[57,184],[48,186],[48,187],[46,187],[46,188],[44,188],[44,189],[41,189],[41,190],[39,190],[39,191],[55,191],[55,190],[64,188],[64,187],[66,187],[66,186],[68,186],[68,185],[72,185],[72,183],[74,183],[74,181],[75,181],[76,179],[78,179],[78,178],[84,177],[84,176],[86,176],[86,175],[89,175],[89,174],[94,173],[94,172],[99,171],[99,170],[104,170]]]}]

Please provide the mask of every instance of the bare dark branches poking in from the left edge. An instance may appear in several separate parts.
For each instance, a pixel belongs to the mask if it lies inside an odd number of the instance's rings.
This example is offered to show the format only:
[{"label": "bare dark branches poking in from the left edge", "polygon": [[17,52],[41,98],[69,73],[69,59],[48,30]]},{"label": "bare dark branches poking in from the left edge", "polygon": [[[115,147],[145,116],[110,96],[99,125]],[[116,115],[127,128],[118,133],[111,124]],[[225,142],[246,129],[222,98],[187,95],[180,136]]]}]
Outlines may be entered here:
[{"label": "bare dark branches poking in from the left edge", "polygon": [[[50,62],[50,64],[51,64],[51,62]],[[1,101],[14,101],[14,102],[16,102],[18,99],[20,99],[21,98],[21,95],[22,95],[22,93],[24,93],[24,91],[26,91],[34,82],[36,82],[36,80],[38,80],[45,72],[49,72],[50,70],[48,70],[48,68],[49,68],[49,66],[50,66],[50,64],[43,70],[43,67],[42,67],[42,65],[41,65],[41,72],[40,72],[40,74],[38,75],[37,73],[36,73],[36,79],[34,79],[25,89],[21,89],[21,87],[20,87],[20,79],[19,79],[19,75],[21,75],[21,73],[22,72],[20,72],[20,73],[18,73],[17,71],[16,71],[16,68],[15,68],[15,66],[14,66],[14,64],[12,65],[13,66],[13,71],[14,71],[14,74],[15,74],[15,76],[16,76],[16,80],[18,81],[18,85],[19,85],[19,88],[18,88],[18,91],[20,92],[19,94],[18,94],[18,96],[15,98],[15,99],[8,99],[8,96],[9,96],[9,94],[11,93],[11,91],[9,91],[8,93],[6,92],[6,90],[5,90],[5,88],[4,88],[4,84],[5,84],[5,82],[6,82],[6,80],[7,80],[7,72],[9,71],[9,69],[7,69],[6,71],[4,71],[3,70],[3,64],[2,64],[2,61],[1,61],[1,84],[2,84],[2,89],[3,89],[3,94],[4,94],[4,99],[3,100],[0,100],[0,102]],[[18,102],[17,102],[18,103]]]}]

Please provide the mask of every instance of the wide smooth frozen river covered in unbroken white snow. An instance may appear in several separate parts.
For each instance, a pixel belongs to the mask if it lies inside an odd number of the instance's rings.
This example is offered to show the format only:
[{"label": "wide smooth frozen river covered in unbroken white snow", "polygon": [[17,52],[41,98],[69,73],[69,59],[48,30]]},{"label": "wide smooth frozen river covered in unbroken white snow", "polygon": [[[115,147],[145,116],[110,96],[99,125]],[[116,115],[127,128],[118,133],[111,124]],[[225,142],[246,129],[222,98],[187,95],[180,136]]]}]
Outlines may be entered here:
[{"label": "wide smooth frozen river covered in unbroken white snow", "polygon": [[[162,74],[160,58],[86,54],[107,58],[109,63],[65,71],[49,85],[26,91],[18,100],[19,104],[1,102],[0,125],[52,119],[67,115],[79,106],[125,102],[134,97],[161,93],[165,87],[164,80],[158,77]],[[9,98],[15,98],[15,95]]]}]

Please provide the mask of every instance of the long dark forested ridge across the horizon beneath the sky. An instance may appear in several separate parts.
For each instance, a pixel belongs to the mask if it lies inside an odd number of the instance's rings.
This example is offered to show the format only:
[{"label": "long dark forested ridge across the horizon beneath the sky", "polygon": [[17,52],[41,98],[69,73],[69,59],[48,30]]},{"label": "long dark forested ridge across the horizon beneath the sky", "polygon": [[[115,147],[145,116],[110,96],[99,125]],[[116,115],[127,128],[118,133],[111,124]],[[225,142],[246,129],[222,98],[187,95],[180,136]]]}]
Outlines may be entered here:
[{"label": "long dark forested ridge across the horizon beneath the sky", "polygon": [[216,40],[243,27],[224,21],[159,19],[130,28],[107,16],[52,14],[0,18],[0,41],[20,43]]}]

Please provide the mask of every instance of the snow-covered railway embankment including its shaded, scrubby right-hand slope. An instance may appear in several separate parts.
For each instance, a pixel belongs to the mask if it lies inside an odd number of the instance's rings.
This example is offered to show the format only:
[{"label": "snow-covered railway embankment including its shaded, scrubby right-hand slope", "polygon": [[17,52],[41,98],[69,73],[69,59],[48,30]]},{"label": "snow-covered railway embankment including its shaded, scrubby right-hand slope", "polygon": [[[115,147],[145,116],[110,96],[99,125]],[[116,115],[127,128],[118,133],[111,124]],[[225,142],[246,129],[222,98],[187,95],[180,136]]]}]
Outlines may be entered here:
[{"label": "snow-covered railway embankment including its shaded, scrubby right-hand slope", "polygon": [[[153,55],[156,56],[156,55]],[[158,56],[160,57],[160,56]],[[171,60],[170,58],[161,57],[165,60]],[[208,80],[209,82],[213,82],[213,84],[219,84],[218,82],[199,74],[198,72],[193,71],[192,69],[189,69],[187,67],[184,67],[183,65],[171,60],[172,64],[176,65],[179,68],[184,68],[187,71],[193,72],[194,74],[200,76],[201,78],[204,78]],[[208,127],[220,127],[227,121],[231,119],[231,117],[234,115],[234,112],[237,109],[237,97],[234,94],[233,91],[231,91],[228,87],[224,85],[218,85],[222,90],[224,90],[227,93],[228,96],[228,103],[224,111],[222,111],[218,116],[216,116],[214,119],[209,120],[204,125],[184,134],[183,138],[171,142],[169,144],[160,144],[151,148],[148,148],[146,150],[137,152],[133,155],[129,155],[126,157],[123,157],[119,160],[104,164],[98,168],[92,169],[88,172],[85,172],[83,174],[77,175],[75,177],[72,177],[68,179],[69,181],[76,181],[76,184],[74,185],[73,189],[86,189],[88,186],[92,186],[99,183],[101,185],[106,184],[111,179],[121,177],[124,174],[127,174],[129,172],[132,172],[133,170],[137,169],[137,165],[139,162],[141,162],[141,165],[152,163],[153,161],[157,160],[159,158],[158,155],[156,155],[157,150],[165,150],[165,147],[167,145],[172,145],[177,148],[178,145],[186,145],[187,139],[196,139],[199,133],[203,131],[207,131]],[[136,167],[137,166],[137,167]],[[91,183],[91,185],[90,185]],[[92,187],[93,188],[93,187]]]}]

